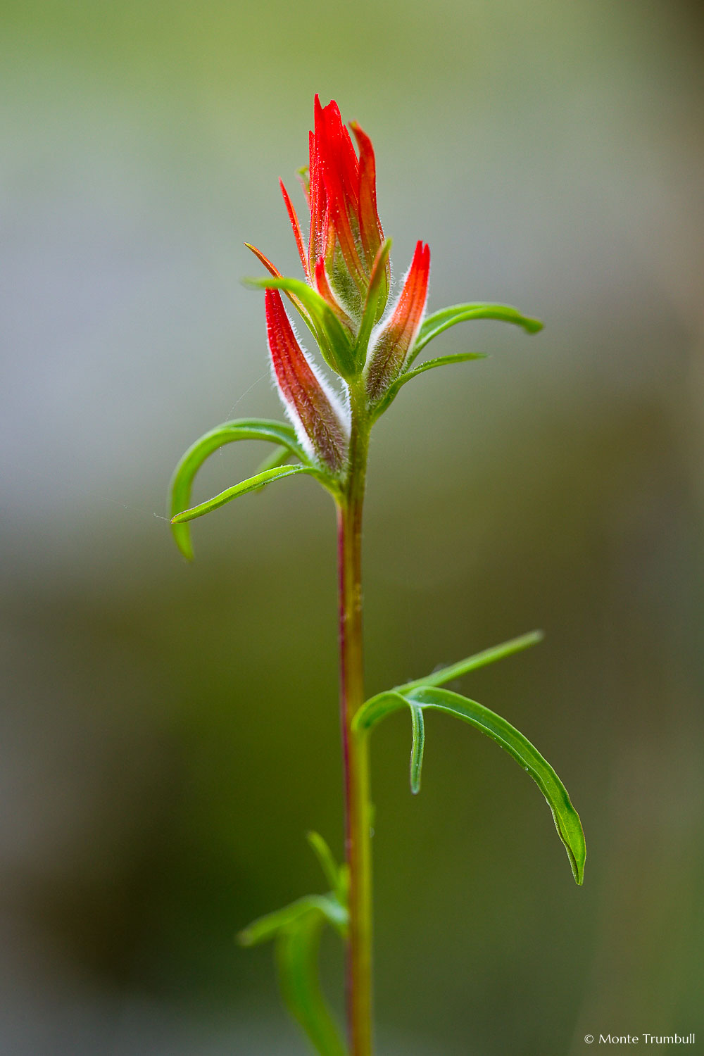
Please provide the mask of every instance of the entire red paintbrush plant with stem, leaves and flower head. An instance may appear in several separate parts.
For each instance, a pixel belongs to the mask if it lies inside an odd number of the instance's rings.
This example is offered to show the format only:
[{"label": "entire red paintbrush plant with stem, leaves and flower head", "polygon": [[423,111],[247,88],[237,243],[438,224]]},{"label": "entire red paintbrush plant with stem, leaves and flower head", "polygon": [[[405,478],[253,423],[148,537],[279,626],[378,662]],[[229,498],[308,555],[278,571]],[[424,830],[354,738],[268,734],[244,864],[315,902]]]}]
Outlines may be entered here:
[{"label": "entire red paintbrush plant with stem, leaves and flower head", "polygon": [[[470,319],[500,319],[535,333],[541,324],[509,305],[478,302],[454,304],[424,318],[431,253],[423,242],[417,243],[398,298],[384,317],[391,240],[384,240],[377,214],[372,144],[358,125],[353,122],[350,130],[358,151],[342,124],[337,103],[322,107],[316,96],[308,177],[302,181],[310,211],[307,245],[293,204],[281,184],[305,281],[283,276],[259,249],[249,246],[269,272],[264,279],[249,282],[266,290],[271,366],[292,425],[262,418],[226,421],[191,445],[173,476],[171,524],[178,547],[185,557],[191,558],[189,522],[240,495],[261,491],[274,480],[293,475],[312,476],[335,499],[346,862],[338,866],[322,836],[310,833],[311,847],[328,881],[328,893],[304,897],[261,917],[241,932],[240,941],[250,946],[274,939],[282,993],[318,1052],[368,1056],[373,1035],[369,845],[373,808],[367,739],[385,715],[399,708],[411,710],[414,793],[420,789],[423,710],[439,709],[489,734],[525,766],[550,804],[577,884],[583,881],[586,847],[579,816],[567,790],[536,749],[499,715],[442,689],[460,675],[537,642],[541,633],[484,649],[364,701],[361,539],[372,427],[412,378],[438,366],[483,358],[473,352],[455,353],[424,359],[414,367],[429,342],[451,326]],[[309,328],[346,398],[334,395],[300,344],[284,308],[282,293]],[[199,467],[224,444],[234,440],[263,440],[274,449],[254,475],[203,503],[190,505],[193,478]],[[324,924],[339,931],[346,945],[348,1043],[342,1040],[319,993],[317,949]]]}]

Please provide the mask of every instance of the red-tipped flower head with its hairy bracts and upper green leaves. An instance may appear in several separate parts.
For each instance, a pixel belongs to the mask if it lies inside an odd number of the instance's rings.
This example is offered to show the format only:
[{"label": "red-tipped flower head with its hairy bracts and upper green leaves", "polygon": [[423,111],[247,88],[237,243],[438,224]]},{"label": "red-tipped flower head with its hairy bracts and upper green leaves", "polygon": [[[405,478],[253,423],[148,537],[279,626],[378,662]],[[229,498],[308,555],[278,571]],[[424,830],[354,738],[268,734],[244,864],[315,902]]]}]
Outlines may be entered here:
[{"label": "red-tipped flower head with its hairy bracts and upper green leaves", "polygon": [[[423,242],[418,242],[398,299],[383,318],[391,240],[384,240],[377,212],[372,142],[355,121],[349,128],[357,150],[337,102],[323,107],[316,96],[309,168],[301,170],[310,212],[307,244],[293,203],[280,181],[305,281],[282,276],[264,253],[254,246],[249,248],[271,276],[252,282],[286,294],[326,364],[343,379],[348,392],[357,392],[356,398],[363,393],[367,410],[376,418],[412,377],[435,366],[477,358],[476,353],[460,353],[411,370],[429,341],[450,326],[482,318],[503,319],[529,332],[540,324],[508,305],[483,303],[452,305],[424,319],[431,253]],[[349,409],[343,412],[324,386],[293,335],[280,297],[267,297],[267,325],[279,389],[301,439],[321,465],[334,467],[340,475],[346,466]],[[282,348],[287,350],[285,358]],[[318,413],[321,422],[315,420]]]}]

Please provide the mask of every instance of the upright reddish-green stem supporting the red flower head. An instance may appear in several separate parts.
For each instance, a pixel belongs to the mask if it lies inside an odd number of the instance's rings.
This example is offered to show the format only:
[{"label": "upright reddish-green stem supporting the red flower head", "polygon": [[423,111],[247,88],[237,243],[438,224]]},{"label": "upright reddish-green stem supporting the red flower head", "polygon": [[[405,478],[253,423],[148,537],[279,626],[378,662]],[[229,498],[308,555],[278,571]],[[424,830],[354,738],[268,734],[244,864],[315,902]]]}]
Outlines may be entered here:
[{"label": "upright reddish-green stem supporting the red flower head", "polygon": [[344,758],[345,852],[349,869],[347,1030],[350,1056],[372,1056],[372,808],[368,740],[351,721],[364,703],[362,506],[369,426],[364,393],[350,391],[349,469],[338,509],[340,720]]}]

